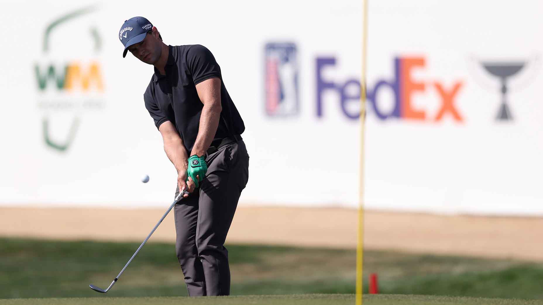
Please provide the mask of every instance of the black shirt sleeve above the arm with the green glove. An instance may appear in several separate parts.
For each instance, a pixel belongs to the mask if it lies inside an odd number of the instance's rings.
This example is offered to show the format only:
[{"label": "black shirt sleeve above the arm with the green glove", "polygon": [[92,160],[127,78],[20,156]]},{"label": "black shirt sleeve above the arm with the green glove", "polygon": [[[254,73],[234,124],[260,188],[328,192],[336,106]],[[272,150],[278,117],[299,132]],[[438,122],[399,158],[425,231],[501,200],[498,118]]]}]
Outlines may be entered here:
[{"label": "black shirt sleeve above the arm with the green glove", "polygon": [[211,51],[204,46],[194,45],[187,51],[188,70],[194,85],[206,79],[220,78],[220,67]]}]

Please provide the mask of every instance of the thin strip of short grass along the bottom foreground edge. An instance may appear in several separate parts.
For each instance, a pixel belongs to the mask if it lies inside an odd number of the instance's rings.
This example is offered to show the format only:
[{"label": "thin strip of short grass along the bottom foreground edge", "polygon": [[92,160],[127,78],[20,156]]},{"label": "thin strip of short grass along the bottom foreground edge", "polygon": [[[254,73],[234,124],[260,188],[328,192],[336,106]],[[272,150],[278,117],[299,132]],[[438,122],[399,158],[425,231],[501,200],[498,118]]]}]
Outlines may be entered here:
[{"label": "thin strip of short grass along the bottom foreground edge", "polygon": [[[86,297],[86,298],[19,298],[0,300],[0,305],[79,305],[79,304],[184,304],[184,305],[351,305],[355,303],[353,294],[303,294],[303,295],[249,295],[228,297]],[[366,295],[366,305],[535,305],[543,301],[510,300],[502,298],[473,298],[420,295]]]}]

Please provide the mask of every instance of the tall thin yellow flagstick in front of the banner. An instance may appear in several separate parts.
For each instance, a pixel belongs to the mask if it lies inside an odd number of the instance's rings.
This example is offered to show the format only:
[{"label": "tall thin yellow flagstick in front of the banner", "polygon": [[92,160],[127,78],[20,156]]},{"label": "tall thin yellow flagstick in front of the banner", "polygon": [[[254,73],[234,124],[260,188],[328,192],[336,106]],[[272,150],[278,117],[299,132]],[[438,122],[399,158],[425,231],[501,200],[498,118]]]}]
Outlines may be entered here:
[{"label": "tall thin yellow flagstick in front of the banner", "polygon": [[362,73],[360,77],[360,185],[358,189],[358,240],[356,245],[356,305],[362,305],[364,283],[364,134],[366,115],[366,54],[368,37],[368,1],[362,0]]}]

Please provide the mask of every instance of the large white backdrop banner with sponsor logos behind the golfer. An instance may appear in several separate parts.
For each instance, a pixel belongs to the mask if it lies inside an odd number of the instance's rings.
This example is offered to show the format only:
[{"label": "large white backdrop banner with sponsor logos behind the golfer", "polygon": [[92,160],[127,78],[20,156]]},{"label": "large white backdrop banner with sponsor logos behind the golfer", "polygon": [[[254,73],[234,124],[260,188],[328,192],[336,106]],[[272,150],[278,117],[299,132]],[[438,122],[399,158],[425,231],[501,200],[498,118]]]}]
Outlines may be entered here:
[{"label": "large white backdrop banner with sponsor logos behind the golfer", "polygon": [[[124,20],[213,52],[250,155],[242,204],[357,206],[362,4],[7,1],[3,205],[166,206],[176,173]],[[466,9],[469,8],[469,9]],[[543,214],[543,3],[371,1],[365,205]],[[140,178],[149,174],[150,181]]]}]

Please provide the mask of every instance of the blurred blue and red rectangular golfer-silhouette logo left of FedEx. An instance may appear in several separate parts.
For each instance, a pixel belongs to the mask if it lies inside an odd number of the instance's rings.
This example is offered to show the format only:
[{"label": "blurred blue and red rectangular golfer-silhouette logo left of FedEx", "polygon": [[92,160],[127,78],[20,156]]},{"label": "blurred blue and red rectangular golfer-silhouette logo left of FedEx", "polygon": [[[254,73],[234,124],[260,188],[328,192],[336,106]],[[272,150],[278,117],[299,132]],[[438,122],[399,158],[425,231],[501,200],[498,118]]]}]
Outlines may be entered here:
[{"label": "blurred blue and red rectangular golfer-silhouette logo left of FedEx", "polygon": [[264,48],[266,114],[299,113],[298,50],[292,42],[270,42]]}]

